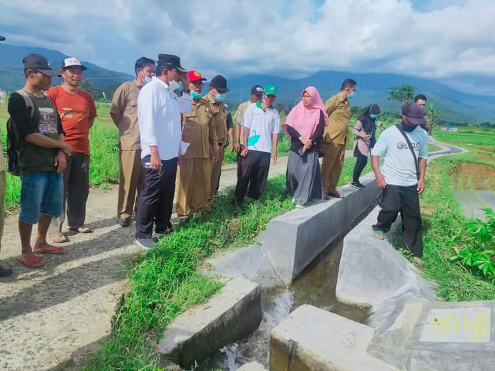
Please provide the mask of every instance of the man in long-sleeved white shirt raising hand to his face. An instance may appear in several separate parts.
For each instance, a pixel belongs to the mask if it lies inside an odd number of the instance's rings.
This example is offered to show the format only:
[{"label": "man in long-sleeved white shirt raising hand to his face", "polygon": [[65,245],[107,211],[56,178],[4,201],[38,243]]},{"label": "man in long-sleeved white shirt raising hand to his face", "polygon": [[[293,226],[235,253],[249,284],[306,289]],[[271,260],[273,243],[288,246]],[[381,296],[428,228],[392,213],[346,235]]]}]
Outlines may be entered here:
[{"label": "man in long-sleeved white shirt raising hand to his face", "polygon": [[[181,113],[192,110],[187,70],[180,58],[159,54],[156,76],[142,87],[137,98],[144,189],[137,202],[134,242],[144,249],[155,246],[151,238],[172,232],[173,197],[177,162],[180,162]],[[184,89],[181,98],[175,91]]]}]

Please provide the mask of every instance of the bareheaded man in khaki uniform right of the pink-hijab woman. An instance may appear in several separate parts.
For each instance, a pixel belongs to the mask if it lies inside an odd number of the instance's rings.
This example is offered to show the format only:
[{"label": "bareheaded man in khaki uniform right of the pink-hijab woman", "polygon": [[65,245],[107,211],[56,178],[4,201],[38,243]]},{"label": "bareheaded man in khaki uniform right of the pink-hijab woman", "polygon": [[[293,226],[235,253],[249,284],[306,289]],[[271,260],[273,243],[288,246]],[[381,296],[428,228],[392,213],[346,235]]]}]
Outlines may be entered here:
[{"label": "bareheaded man in khaki uniform right of the pink-hijab woman", "polygon": [[351,118],[349,100],[355,95],[356,85],[354,80],[347,78],[342,82],[340,91],[325,102],[325,110],[329,115],[329,124],[323,134],[325,157],[321,169],[325,199],[342,197],[337,184],[344,166],[345,144]]}]

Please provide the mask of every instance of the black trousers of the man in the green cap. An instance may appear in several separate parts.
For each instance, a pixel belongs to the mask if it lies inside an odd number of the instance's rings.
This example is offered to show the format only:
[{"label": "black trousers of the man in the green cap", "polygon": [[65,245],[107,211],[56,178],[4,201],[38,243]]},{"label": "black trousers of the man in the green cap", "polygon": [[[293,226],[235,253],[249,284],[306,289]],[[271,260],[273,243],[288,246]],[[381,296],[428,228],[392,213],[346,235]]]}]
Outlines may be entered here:
[{"label": "black trousers of the man in the green cap", "polygon": [[237,185],[234,197],[237,203],[242,203],[246,194],[251,199],[259,199],[265,190],[270,170],[270,153],[250,150],[245,158],[239,157],[237,163]]}]

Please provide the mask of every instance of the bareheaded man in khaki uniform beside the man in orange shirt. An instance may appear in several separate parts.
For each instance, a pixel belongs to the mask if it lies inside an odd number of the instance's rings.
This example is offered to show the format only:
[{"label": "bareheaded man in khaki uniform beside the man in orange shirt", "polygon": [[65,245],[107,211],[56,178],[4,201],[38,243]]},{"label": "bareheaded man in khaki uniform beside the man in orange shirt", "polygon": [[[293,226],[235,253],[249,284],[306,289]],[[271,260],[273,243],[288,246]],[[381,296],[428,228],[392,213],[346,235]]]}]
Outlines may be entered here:
[{"label": "bareheaded man in khaki uniform beside the man in orange shirt", "polygon": [[135,63],[135,80],[124,82],[113,94],[110,115],[119,129],[119,190],[117,216],[122,227],[131,225],[135,201],[144,187],[141,143],[137,124],[137,95],[155,76],[155,61],[139,58]]}]

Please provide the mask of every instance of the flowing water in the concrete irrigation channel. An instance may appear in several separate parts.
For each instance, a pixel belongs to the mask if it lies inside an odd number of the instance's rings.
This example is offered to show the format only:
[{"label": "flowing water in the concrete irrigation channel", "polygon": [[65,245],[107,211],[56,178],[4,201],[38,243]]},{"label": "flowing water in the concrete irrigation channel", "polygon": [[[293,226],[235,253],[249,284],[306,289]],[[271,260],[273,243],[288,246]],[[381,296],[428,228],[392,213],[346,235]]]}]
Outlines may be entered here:
[{"label": "flowing water in the concrete irrigation channel", "polygon": [[278,286],[265,288],[261,293],[263,319],[258,329],[237,343],[223,347],[205,361],[198,370],[236,370],[244,363],[256,361],[268,368],[270,333],[290,312],[303,304],[311,304],[365,323],[368,313],[365,309],[347,306],[337,302],[336,285],[338,266],[342,255],[342,243],[316,259],[296,282],[289,288]]}]

